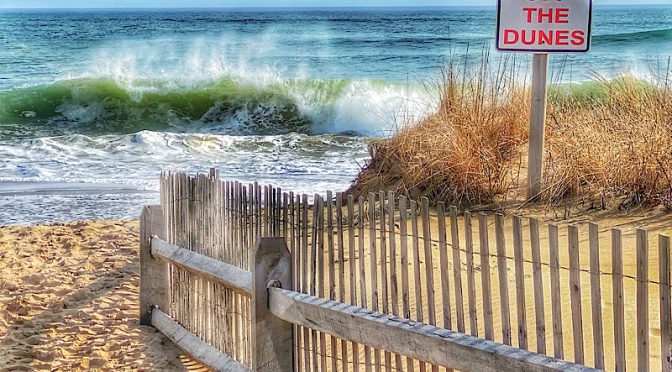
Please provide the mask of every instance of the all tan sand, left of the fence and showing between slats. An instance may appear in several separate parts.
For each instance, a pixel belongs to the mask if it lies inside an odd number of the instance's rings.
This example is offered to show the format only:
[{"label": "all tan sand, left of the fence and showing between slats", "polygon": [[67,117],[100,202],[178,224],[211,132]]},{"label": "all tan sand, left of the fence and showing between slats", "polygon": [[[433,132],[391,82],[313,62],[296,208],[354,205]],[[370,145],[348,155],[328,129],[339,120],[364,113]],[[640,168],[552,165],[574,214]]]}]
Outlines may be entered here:
[{"label": "all tan sand, left of the fence and showing between slats", "polygon": [[[586,221],[600,225],[604,239],[600,247],[603,270],[611,269],[608,233],[612,227],[624,230],[624,269],[627,274],[635,274],[634,230],[638,226],[650,228],[651,251],[649,257],[652,280],[658,276],[656,234],[672,234],[672,216],[664,211],[630,211],[628,213],[591,212],[574,215],[571,219],[558,218],[548,210],[532,208],[520,212],[536,215],[545,226],[555,222],[562,226],[561,242],[566,241],[564,233],[568,223],[582,226],[581,262],[588,267]],[[433,219],[436,221],[435,219]],[[433,232],[436,225],[433,224]],[[510,221],[507,220],[507,230]],[[527,224],[525,224],[527,229]],[[544,227],[545,229],[545,227]],[[492,230],[492,226],[490,226]],[[491,231],[491,238],[494,231]],[[524,240],[528,244],[528,234]],[[507,246],[512,254],[510,231],[507,231]],[[547,236],[542,232],[542,246],[547,244]],[[181,355],[167,339],[149,327],[140,327],[138,321],[138,223],[119,222],[75,222],[71,224],[40,225],[34,227],[0,227],[0,371],[4,370],[187,370],[203,367]],[[494,241],[491,243],[494,249]],[[435,288],[439,288],[438,246],[433,244]],[[476,246],[478,252],[478,246]],[[564,243],[560,250],[560,261],[567,265],[568,257]],[[526,250],[525,257],[530,253]],[[325,254],[326,257],[326,254]],[[350,257],[347,256],[346,260]],[[542,249],[542,260],[547,261],[546,249]],[[369,267],[368,257],[365,258]],[[423,263],[424,265],[424,263]],[[492,260],[491,280],[493,288],[498,288],[496,262]],[[478,266],[478,263],[477,263]],[[509,295],[512,326],[516,327],[515,287],[509,263]],[[529,266],[529,265],[528,265]],[[450,267],[452,271],[452,267]],[[526,267],[527,324],[530,348],[536,349],[534,337],[534,301],[530,267]],[[548,277],[544,268],[544,280]],[[480,270],[477,267],[477,273]],[[466,288],[466,274],[463,267],[463,285]],[[476,302],[478,307],[479,334],[483,334],[480,273],[477,274]],[[451,276],[452,278],[452,276]],[[347,276],[346,276],[347,279]],[[567,273],[561,273],[563,296],[563,328],[571,329],[569,311]],[[589,277],[582,274],[584,301],[588,300]],[[346,280],[344,283],[349,286]],[[424,286],[424,280],[423,280]],[[626,292],[626,343],[629,366],[636,365],[635,282],[625,281]],[[605,327],[605,352],[608,369],[613,368],[613,317],[611,312],[611,281],[603,277],[603,311]],[[546,325],[551,326],[549,283],[544,282],[546,302]],[[452,280],[451,280],[452,287]],[[370,288],[369,288],[370,290]],[[415,297],[413,290],[411,298]],[[369,293],[371,293],[369,291]],[[437,292],[436,308],[441,309],[441,296]],[[454,288],[451,288],[454,293]],[[650,288],[650,336],[652,365],[659,363],[660,329],[657,315],[657,287]],[[423,298],[425,297],[423,293]],[[348,296],[349,297],[349,296]],[[493,302],[494,322],[499,324],[499,296],[490,294]],[[466,301],[466,293],[465,293]],[[411,310],[415,313],[413,301]],[[590,306],[584,302],[584,330],[586,339],[586,362],[592,364],[592,327]],[[455,309],[452,309],[455,319]],[[427,309],[425,309],[427,311]],[[467,319],[468,323],[468,319]],[[469,326],[467,325],[469,330]],[[547,334],[547,351],[552,352],[552,337]],[[497,334],[496,338],[499,339]],[[514,334],[514,345],[517,344]],[[572,360],[572,341],[564,340],[565,359]],[[360,349],[361,351],[361,349]]]}]

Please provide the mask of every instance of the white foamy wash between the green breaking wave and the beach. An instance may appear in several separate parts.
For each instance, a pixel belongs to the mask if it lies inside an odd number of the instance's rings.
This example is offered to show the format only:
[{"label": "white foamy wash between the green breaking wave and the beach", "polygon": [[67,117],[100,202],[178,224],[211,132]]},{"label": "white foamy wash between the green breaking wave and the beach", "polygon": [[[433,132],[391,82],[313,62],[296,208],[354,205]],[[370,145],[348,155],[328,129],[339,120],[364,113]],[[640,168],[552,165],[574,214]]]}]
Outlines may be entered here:
[{"label": "white foamy wash between the green breaking wave and the beach", "polygon": [[[216,167],[241,179],[287,177],[300,186],[317,177],[347,187],[367,157],[366,146],[362,138],[303,134],[69,135],[0,143],[0,154],[7,159],[0,163],[0,182],[119,183],[157,190],[162,171]],[[317,190],[310,183],[303,187]]]}]

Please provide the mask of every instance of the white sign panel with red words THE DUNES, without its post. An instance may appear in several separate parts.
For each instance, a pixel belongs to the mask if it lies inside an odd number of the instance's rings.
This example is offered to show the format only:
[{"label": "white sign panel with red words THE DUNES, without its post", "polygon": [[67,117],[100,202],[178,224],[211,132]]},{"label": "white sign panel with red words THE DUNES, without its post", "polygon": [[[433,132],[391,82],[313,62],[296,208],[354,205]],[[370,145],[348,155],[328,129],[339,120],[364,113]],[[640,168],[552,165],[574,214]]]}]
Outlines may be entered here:
[{"label": "white sign panel with red words THE DUNES, without its post", "polygon": [[499,0],[497,49],[582,53],[590,48],[592,0]]}]

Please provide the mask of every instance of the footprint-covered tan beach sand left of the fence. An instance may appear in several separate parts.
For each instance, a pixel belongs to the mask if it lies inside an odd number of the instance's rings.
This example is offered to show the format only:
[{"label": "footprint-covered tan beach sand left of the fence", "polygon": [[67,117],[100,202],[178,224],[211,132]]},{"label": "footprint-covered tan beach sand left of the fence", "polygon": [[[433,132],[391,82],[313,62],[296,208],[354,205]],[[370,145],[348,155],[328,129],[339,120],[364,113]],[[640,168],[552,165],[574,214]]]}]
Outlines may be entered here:
[{"label": "footprint-covered tan beach sand left of the fence", "polygon": [[194,370],[141,327],[138,222],[0,227],[0,371]]}]

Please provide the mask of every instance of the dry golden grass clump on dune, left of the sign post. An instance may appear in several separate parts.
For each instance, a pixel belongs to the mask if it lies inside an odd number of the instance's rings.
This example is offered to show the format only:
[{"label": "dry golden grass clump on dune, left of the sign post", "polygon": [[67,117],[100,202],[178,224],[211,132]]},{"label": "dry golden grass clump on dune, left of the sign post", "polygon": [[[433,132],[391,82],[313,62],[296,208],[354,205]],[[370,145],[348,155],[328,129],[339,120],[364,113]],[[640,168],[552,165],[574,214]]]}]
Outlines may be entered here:
[{"label": "dry golden grass clump on dune, left of the sign post", "polygon": [[527,139],[527,90],[516,81],[515,57],[496,67],[487,51],[482,57],[476,68],[468,59],[447,62],[438,84],[428,85],[438,95],[436,113],[374,143],[351,192],[480,204],[511,187],[508,161]]}]

